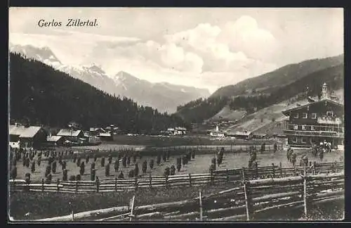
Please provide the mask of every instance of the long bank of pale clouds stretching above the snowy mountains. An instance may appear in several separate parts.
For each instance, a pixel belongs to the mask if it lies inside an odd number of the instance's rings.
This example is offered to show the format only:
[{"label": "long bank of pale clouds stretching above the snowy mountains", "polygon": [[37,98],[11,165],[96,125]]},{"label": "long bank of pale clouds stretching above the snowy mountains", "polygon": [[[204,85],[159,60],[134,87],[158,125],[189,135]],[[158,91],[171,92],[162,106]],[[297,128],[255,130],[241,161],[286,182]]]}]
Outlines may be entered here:
[{"label": "long bank of pale clouds stretching above the snowy mountains", "polygon": [[196,84],[211,91],[277,67],[265,58],[276,40],[248,16],[223,27],[200,23],[162,38],[155,42],[55,30],[53,35],[11,33],[10,41],[49,46],[69,65],[96,63],[110,75],[125,70],[151,82]]}]

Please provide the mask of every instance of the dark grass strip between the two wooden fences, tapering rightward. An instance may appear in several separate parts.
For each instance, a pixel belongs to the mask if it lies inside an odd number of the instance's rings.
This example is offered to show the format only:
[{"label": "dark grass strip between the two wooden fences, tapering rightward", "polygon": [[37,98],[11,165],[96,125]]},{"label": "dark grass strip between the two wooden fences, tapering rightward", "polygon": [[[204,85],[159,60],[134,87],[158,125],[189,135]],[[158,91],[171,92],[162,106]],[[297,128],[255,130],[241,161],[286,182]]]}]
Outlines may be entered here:
[{"label": "dark grass strip between the two wooden fences, tapering rightward", "polygon": [[10,194],[10,215],[15,220],[22,220],[26,213],[30,213],[30,220],[46,217],[68,215],[68,204],[72,203],[74,212],[86,210],[98,210],[128,205],[129,200],[135,194],[135,205],[149,205],[153,203],[166,203],[181,201],[197,197],[199,190],[203,194],[211,194],[224,189],[230,189],[233,185],[221,186],[184,186],[174,189],[139,189],[128,192],[106,193],[51,193],[51,192],[13,192]]}]

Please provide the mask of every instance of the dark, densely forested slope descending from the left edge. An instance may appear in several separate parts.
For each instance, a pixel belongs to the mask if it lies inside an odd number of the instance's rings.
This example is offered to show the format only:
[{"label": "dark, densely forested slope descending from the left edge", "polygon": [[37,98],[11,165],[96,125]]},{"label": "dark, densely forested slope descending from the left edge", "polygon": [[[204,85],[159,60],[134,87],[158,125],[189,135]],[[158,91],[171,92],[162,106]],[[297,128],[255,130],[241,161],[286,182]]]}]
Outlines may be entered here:
[{"label": "dark, densely forested slope descending from the left edge", "polygon": [[[32,125],[85,128],[114,124],[126,132],[154,132],[184,126],[176,115],[138,106],[19,54],[10,55],[10,118]],[[187,127],[187,126],[185,126]]]}]

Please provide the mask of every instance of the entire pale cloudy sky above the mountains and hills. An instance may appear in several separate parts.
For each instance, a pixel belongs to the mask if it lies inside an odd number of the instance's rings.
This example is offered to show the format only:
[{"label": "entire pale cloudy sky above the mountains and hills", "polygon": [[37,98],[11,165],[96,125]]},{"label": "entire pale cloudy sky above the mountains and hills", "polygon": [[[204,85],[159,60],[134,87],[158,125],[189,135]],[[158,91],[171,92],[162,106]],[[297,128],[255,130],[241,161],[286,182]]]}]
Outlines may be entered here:
[{"label": "entire pale cloudy sky above the mountains and hills", "polygon": [[[98,25],[66,27],[69,18]],[[10,8],[9,42],[48,46],[67,65],[213,92],[343,53],[343,8]]]}]

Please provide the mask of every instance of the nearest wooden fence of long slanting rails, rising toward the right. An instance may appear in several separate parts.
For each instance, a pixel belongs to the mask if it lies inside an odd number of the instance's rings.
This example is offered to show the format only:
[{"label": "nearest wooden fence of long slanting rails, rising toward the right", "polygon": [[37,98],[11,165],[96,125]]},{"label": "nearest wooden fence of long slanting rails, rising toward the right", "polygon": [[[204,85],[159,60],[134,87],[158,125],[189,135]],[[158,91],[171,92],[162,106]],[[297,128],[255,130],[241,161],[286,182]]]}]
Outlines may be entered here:
[{"label": "nearest wooden fence of long slanting rails, rising toward the right", "polygon": [[[306,173],[306,172],[305,172]],[[185,201],[120,206],[77,213],[77,220],[256,220],[279,208],[303,208],[308,217],[317,203],[344,197],[343,172],[243,180],[240,186]],[[268,213],[268,214],[267,214]],[[69,215],[39,221],[70,220]]]}]

